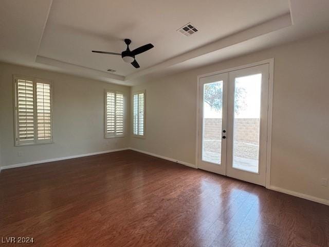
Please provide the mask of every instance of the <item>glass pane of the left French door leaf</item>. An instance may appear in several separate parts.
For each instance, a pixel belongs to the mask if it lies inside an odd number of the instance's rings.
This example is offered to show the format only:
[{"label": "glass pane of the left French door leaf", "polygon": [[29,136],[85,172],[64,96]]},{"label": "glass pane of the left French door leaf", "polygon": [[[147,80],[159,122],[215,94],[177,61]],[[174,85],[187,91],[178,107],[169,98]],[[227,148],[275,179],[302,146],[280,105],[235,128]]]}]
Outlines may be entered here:
[{"label": "glass pane of the left French door leaf", "polygon": [[223,81],[204,84],[202,160],[221,164]]}]

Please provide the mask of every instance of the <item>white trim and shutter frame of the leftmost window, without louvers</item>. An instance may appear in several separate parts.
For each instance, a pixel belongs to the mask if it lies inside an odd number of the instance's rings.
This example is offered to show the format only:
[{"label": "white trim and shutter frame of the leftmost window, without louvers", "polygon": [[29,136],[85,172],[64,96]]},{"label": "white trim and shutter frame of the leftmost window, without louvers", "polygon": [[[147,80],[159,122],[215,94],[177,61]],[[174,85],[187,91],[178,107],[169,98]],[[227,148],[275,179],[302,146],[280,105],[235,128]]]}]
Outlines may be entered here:
[{"label": "white trim and shutter frame of the leftmost window, without louvers", "polygon": [[[51,144],[53,142],[53,114],[52,114],[52,102],[53,102],[53,83],[52,80],[49,79],[43,79],[43,78],[38,78],[38,77],[32,77],[32,76],[23,76],[23,75],[15,75],[13,74],[13,124],[14,124],[14,146],[15,147],[21,147],[21,146],[30,146],[30,145],[40,145],[40,144]],[[33,142],[22,142],[19,140],[19,126],[17,125],[17,80],[30,80],[33,83],[33,121],[34,121],[34,140]],[[50,135],[51,138],[49,140],[38,140],[38,114],[36,110],[36,83],[38,81],[43,82],[43,83],[48,83],[50,85]]]}]

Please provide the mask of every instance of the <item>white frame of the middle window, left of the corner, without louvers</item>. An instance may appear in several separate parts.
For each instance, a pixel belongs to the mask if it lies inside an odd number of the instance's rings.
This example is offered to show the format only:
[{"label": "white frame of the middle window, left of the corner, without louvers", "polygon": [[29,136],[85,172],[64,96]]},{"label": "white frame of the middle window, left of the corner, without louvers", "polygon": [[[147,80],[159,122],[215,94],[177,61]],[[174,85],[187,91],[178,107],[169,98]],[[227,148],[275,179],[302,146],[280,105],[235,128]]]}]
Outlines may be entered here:
[{"label": "white frame of the middle window, left of the corner, without louvers", "polygon": [[[114,132],[114,135],[107,135],[107,131],[106,131],[106,126],[107,126],[107,93],[114,93],[115,95],[115,100],[114,100],[114,105],[115,105],[115,109],[117,108],[117,94],[122,94],[123,95],[123,133],[121,135],[118,135]],[[125,122],[126,122],[126,107],[125,107],[125,94],[122,91],[118,91],[118,90],[111,90],[111,89],[105,89],[104,90],[104,138],[108,139],[108,138],[122,138],[125,137]],[[115,114],[115,126],[116,126],[116,114]]]}]

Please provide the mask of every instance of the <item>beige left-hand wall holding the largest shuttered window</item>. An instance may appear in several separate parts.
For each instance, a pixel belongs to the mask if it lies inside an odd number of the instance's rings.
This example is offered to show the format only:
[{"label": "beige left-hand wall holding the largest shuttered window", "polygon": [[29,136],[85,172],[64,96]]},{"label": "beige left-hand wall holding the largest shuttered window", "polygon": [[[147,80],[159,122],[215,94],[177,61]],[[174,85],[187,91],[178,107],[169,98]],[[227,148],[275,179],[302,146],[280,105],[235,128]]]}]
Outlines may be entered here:
[{"label": "beige left-hand wall holding the largest shuttered window", "polygon": [[[128,147],[129,114],[125,137],[104,138],[104,90],[122,91],[129,113],[130,87],[6,63],[0,71],[2,166]],[[53,144],[14,147],[13,74],[53,80]]]}]

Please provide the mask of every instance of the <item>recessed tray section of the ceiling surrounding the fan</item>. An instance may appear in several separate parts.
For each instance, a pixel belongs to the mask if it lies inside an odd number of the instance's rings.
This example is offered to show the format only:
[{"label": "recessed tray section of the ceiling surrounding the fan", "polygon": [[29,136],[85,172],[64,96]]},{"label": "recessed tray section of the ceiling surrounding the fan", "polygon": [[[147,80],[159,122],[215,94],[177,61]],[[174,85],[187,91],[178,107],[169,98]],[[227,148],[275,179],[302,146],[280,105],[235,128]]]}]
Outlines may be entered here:
[{"label": "recessed tray section of the ceiling surrounding the fan", "polygon": [[[137,69],[118,56],[90,51],[120,53],[125,38],[132,40],[131,48],[152,43],[155,48],[136,57],[143,69],[288,11],[286,0],[57,0],[39,55],[127,76]],[[188,22],[200,31],[191,37],[176,32]]]}]

